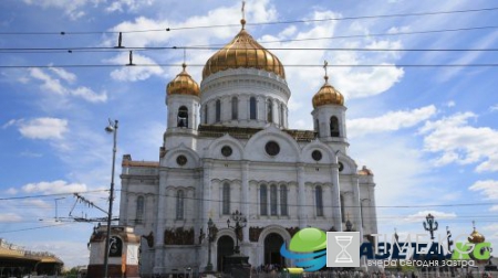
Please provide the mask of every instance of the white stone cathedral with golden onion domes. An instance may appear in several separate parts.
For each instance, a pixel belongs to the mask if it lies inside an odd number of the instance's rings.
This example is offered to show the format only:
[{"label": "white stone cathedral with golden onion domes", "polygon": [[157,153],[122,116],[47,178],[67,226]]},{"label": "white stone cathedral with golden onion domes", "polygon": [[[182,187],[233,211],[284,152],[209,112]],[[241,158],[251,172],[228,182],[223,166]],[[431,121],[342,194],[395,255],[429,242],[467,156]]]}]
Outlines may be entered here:
[{"label": "white stone cathedral with golden onion domes", "polygon": [[245,24],[200,86],[186,64],[167,84],[158,161],[123,157],[120,225],[142,236],[142,277],[221,271],[237,246],[253,267],[291,267],[279,250],[300,228],[377,232],[373,173],[349,156],[343,95],[325,71],[313,130],[289,129],[284,66]]}]

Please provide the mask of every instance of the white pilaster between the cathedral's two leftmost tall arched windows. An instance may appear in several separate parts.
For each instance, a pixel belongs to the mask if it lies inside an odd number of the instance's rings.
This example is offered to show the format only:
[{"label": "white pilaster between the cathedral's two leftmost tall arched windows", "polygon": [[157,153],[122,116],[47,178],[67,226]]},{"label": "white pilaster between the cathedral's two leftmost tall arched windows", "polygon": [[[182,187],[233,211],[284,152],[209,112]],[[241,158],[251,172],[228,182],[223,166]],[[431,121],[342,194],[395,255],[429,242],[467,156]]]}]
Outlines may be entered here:
[{"label": "white pilaster between the cathedral's two leftmost tall arched windows", "polygon": [[156,227],[156,242],[155,242],[155,264],[154,267],[163,267],[164,256],[164,222],[166,216],[166,186],[168,181],[168,171],[163,170],[159,172],[159,196],[157,209],[157,227]]}]

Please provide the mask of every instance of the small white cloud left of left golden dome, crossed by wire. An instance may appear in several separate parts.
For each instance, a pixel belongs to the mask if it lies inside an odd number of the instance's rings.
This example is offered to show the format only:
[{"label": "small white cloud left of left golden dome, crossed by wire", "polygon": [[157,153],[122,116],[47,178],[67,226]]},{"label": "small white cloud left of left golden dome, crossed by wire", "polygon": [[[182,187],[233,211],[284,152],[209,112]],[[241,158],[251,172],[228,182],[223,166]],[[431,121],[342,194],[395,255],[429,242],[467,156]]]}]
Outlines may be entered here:
[{"label": "small white cloud left of left golden dome, crossed by wire", "polygon": [[[128,54],[121,53],[114,58],[110,58],[104,62],[111,64],[127,64]],[[122,67],[120,70],[114,70],[113,72],[111,72],[111,77],[115,81],[137,82],[137,81],[145,81],[153,75],[160,76],[163,74],[163,68],[160,68],[160,66],[156,66],[157,63],[147,56],[133,54],[133,64],[148,64],[153,66]]]}]

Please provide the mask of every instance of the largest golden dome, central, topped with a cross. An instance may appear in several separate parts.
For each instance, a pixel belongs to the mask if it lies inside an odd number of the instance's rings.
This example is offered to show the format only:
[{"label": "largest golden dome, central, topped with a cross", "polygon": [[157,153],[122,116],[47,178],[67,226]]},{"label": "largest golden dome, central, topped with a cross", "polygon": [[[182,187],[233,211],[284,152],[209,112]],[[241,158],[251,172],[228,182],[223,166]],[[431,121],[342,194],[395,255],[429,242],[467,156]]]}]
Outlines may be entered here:
[{"label": "largest golden dome, central, topped with a cross", "polygon": [[286,73],[279,58],[252,39],[243,29],[246,23],[243,20],[241,23],[242,30],[234,40],[206,62],[203,70],[203,79],[228,68],[240,67],[263,70],[286,78]]}]

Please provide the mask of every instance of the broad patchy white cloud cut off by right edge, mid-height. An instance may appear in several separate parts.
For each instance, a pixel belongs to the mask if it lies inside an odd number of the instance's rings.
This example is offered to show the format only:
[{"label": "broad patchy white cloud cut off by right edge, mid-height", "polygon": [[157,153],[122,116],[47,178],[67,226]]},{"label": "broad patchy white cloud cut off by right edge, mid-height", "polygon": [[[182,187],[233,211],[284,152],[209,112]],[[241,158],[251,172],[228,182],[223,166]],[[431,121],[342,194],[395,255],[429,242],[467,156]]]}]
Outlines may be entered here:
[{"label": "broad patchy white cloud cut off by right edge, mid-height", "polygon": [[421,129],[425,135],[424,150],[440,153],[436,165],[452,162],[478,163],[477,172],[498,171],[498,130],[471,127],[473,113],[458,113],[436,121],[427,121]]}]

